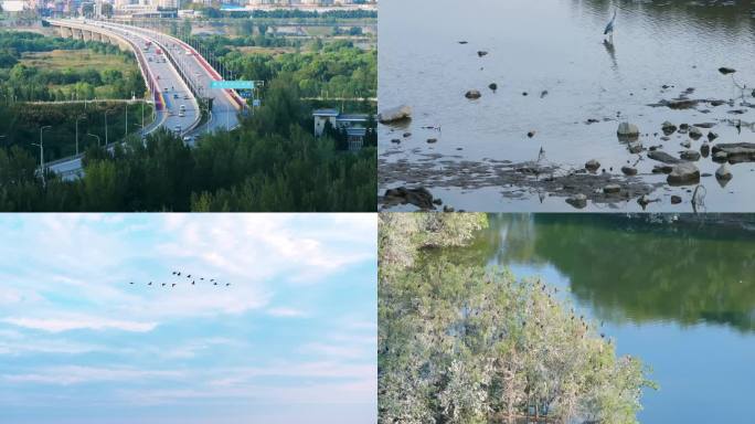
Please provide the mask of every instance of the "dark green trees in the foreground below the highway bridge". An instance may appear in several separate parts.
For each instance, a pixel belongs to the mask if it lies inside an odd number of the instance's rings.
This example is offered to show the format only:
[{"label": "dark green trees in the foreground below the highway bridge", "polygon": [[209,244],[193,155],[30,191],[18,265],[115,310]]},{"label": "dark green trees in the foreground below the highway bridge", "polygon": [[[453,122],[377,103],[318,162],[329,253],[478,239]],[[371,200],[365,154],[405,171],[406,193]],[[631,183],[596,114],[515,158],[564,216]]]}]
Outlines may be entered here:
[{"label": "dark green trees in the foreground below the highway bridge", "polygon": [[2,211],[374,211],[375,148],[338,151],[311,135],[296,84],[281,75],[241,128],[194,149],[167,132],[113,153],[87,150],[85,177],[35,173],[28,151],[0,149]]}]

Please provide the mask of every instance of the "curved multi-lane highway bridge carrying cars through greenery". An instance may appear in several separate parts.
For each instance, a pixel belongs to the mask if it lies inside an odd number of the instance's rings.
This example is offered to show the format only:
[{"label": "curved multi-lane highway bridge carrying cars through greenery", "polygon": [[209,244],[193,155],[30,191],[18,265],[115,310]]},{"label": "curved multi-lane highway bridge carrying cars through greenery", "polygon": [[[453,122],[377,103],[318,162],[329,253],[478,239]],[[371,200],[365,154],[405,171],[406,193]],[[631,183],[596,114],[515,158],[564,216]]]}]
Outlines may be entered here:
[{"label": "curved multi-lane highway bridge carrying cars through greenery", "polygon": [[[222,76],[192,46],[181,40],[143,28],[93,20],[49,20],[61,36],[99,41],[134,52],[143,81],[155,104],[155,121],[142,129],[148,135],[164,127],[182,136],[189,144],[201,132],[233,129],[244,99],[231,89],[212,89],[212,81]],[[213,99],[206,123],[200,125],[198,99]],[[81,177],[82,156],[46,163],[63,178]]]}]

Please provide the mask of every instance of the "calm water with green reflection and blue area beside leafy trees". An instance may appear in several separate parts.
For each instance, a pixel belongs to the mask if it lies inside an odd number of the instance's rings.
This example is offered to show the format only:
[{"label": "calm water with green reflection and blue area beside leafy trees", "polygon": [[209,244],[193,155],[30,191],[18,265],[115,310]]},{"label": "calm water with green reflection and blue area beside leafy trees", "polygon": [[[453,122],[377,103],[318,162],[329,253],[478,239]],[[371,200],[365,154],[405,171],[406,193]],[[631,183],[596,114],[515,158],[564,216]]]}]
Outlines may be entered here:
[{"label": "calm water with green reflection and blue area beside leafy trees", "polygon": [[490,215],[474,243],[444,254],[509,266],[561,288],[603,322],[620,354],[660,390],[641,423],[752,423],[755,229],[650,224],[619,215]]}]

